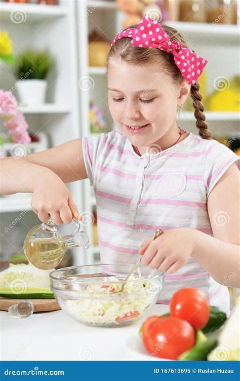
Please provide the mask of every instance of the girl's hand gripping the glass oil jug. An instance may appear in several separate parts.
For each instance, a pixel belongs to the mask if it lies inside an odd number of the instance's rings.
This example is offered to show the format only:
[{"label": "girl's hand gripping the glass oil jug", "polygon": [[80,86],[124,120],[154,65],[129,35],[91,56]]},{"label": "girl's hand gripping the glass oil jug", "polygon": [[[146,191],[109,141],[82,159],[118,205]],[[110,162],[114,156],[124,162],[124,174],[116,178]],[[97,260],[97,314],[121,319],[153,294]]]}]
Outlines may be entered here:
[{"label": "girl's hand gripping the glass oil jug", "polygon": [[70,223],[73,217],[82,220],[67,186],[46,168],[42,176],[34,179],[31,207],[42,222],[47,222],[50,216],[56,225]]}]

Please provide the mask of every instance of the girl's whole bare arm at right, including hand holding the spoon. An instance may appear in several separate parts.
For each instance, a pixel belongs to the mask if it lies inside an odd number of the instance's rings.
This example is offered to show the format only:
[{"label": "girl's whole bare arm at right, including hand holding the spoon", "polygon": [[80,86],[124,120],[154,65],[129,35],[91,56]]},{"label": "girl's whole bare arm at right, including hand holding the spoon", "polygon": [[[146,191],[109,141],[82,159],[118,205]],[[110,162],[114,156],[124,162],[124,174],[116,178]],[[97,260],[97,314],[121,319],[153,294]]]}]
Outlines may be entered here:
[{"label": "girl's whole bare arm at right, including hand holding the spoon", "polygon": [[188,227],[165,231],[142,243],[142,263],[167,274],[180,270],[192,256],[218,282],[240,287],[239,172],[232,164],[208,198],[214,237]]}]

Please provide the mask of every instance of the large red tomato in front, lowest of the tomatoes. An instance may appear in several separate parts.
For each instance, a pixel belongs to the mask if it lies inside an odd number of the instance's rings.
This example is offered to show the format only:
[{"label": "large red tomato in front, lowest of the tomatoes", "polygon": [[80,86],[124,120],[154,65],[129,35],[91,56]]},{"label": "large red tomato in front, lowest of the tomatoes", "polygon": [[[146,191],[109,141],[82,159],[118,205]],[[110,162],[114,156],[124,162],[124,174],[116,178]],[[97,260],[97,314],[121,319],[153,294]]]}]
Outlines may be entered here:
[{"label": "large red tomato in front, lowest of the tomatoes", "polygon": [[151,332],[150,355],[177,360],[195,344],[195,331],[183,319],[169,316],[158,321]]}]

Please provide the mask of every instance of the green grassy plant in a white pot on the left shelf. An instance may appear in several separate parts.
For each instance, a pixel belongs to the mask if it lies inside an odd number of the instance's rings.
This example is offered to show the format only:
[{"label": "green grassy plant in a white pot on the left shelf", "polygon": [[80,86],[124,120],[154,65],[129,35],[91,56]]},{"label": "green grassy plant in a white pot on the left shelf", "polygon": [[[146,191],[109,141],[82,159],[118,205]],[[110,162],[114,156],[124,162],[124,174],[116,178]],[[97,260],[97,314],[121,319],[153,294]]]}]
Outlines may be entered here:
[{"label": "green grassy plant in a white pot on the left shelf", "polygon": [[48,50],[27,49],[17,57],[14,73],[20,80],[17,90],[21,103],[45,103],[46,77],[52,65],[53,58]]}]

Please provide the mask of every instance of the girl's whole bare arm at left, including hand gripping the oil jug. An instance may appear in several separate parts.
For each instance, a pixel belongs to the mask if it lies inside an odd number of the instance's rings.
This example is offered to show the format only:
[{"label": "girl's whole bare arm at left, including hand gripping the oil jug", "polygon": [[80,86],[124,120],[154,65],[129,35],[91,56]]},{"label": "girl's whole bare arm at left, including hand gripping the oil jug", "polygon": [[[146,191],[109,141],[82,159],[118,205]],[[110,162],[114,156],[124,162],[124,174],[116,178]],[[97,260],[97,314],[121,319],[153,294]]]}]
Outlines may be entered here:
[{"label": "girl's whole bare arm at left, including hand gripping the oil jug", "polygon": [[64,182],[87,178],[82,139],[27,155],[0,160],[0,194],[32,193],[31,207],[42,222],[70,223],[81,219]]}]

